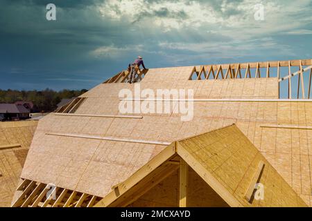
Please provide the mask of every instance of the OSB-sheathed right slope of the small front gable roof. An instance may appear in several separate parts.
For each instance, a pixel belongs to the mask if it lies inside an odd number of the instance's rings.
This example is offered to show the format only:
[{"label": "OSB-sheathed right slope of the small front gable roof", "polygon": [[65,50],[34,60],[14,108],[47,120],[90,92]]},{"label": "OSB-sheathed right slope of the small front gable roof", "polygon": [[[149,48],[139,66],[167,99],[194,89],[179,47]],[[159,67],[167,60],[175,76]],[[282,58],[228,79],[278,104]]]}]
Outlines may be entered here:
[{"label": "OSB-sheathed right slope of the small front gable roof", "polygon": [[[191,137],[179,144],[244,206],[306,206],[236,126]],[[245,193],[260,161],[264,162],[259,177],[259,183],[264,186],[264,198],[248,202]]]}]

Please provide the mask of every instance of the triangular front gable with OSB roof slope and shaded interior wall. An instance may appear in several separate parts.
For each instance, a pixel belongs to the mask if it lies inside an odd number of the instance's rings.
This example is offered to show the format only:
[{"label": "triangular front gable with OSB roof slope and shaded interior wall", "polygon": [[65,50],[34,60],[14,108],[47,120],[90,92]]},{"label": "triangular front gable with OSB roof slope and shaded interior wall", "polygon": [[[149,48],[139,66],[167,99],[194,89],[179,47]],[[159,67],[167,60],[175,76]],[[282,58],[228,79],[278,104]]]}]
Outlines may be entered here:
[{"label": "triangular front gable with OSB roof slope and shaded interior wall", "polygon": [[[177,167],[168,165],[180,160],[189,164],[187,206],[307,206],[235,125],[180,140],[174,146],[182,159],[166,155],[168,146],[96,206],[177,206],[179,176]],[[259,162],[264,167],[252,183]],[[263,185],[263,198],[254,198],[252,191],[246,200],[255,183]]]}]

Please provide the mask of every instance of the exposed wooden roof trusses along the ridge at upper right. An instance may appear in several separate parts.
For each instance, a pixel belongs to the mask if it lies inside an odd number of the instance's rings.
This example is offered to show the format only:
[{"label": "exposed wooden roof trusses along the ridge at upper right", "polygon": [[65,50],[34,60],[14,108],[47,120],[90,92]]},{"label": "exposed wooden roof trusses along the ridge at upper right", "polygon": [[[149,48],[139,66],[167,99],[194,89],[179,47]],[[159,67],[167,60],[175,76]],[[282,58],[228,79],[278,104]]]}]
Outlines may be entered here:
[{"label": "exposed wooden roof trusses along the ridge at upper right", "polygon": [[[292,68],[297,68],[293,71]],[[205,70],[209,70],[206,73]],[[242,75],[245,70],[245,75]],[[216,75],[214,72],[216,71]],[[213,77],[211,76],[211,73]],[[225,74],[224,74],[225,73]],[[293,61],[266,61],[244,64],[219,64],[194,66],[189,80],[205,80],[205,79],[243,79],[243,78],[270,78],[276,77],[279,82],[279,98],[280,90],[287,90],[287,99],[310,99],[311,97],[311,76],[312,75],[312,59],[293,60]],[[283,81],[288,81],[288,86],[281,87]],[[295,90],[292,88],[291,81],[297,83]],[[292,95],[293,94],[293,95]]]}]

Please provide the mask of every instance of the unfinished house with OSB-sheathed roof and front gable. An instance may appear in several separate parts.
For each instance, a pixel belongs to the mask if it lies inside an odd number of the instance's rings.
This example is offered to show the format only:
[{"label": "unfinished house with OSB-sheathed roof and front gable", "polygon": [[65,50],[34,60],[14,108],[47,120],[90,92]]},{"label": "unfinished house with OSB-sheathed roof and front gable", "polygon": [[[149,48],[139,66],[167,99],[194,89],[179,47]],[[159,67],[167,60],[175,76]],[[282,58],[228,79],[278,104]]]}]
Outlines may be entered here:
[{"label": "unfinished house with OSB-sheathed roof and front gable", "polygon": [[[311,59],[122,71],[40,119],[12,206],[311,206],[311,75]],[[138,89],[193,97],[121,112]]]}]

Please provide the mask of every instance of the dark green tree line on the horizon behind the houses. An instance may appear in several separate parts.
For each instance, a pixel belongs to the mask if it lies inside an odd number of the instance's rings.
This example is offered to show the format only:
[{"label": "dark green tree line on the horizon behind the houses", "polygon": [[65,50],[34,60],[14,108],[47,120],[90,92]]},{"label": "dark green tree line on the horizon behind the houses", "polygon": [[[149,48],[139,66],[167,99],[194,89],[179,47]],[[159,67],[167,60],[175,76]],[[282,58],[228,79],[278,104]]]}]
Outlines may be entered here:
[{"label": "dark green tree line on the horizon behind the houses", "polygon": [[12,104],[18,101],[33,102],[34,109],[37,111],[50,112],[54,111],[63,98],[78,97],[87,92],[83,90],[60,90],[55,91],[49,88],[45,90],[1,90],[0,103]]}]

